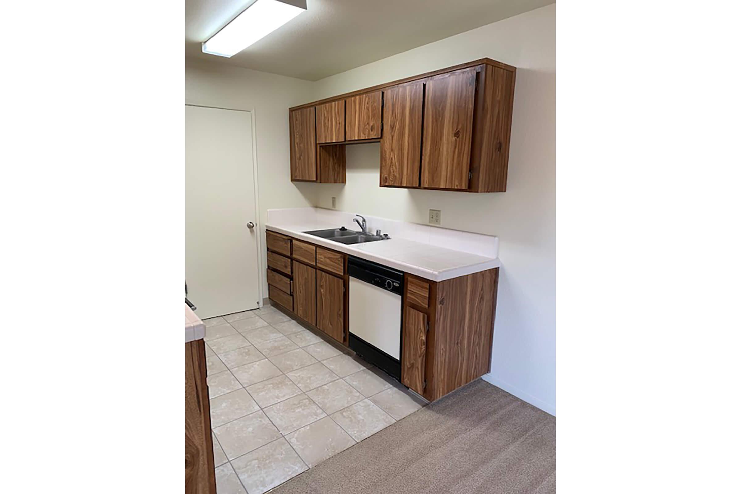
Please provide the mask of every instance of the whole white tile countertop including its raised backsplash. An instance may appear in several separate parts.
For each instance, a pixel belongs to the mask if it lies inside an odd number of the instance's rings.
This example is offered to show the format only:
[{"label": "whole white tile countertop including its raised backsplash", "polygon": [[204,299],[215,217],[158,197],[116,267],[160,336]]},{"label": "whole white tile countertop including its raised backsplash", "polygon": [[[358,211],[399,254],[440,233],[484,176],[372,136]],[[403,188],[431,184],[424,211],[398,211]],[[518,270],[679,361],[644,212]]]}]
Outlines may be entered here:
[{"label": "whole white tile countertop including its raised backsplash", "polygon": [[388,233],[391,239],[345,245],[304,233],[343,226],[349,230],[359,230],[352,221],[353,216],[314,207],[268,210],[265,228],[432,281],[457,278],[501,265],[497,257],[499,239],[479,233],[365,215],[369,231],[379,229],[382,233]]}]

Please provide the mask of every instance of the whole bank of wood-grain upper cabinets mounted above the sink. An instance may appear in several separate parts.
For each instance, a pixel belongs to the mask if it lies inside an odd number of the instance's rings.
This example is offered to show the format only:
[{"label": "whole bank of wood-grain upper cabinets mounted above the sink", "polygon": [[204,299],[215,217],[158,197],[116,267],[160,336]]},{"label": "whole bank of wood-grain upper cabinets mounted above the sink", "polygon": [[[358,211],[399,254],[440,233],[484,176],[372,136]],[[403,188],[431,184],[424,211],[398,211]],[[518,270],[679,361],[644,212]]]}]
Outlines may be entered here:
[{"label": "whole bank of wood-grain upper cabinets mounted above the sink", "polygon": [[345,145],[380,139],[382,187],[505,192],[515,71],[480,59],[295,107],[316,107],[315,144],[338,148],[293,178],[291,127],[291,178],[344,182]]}]

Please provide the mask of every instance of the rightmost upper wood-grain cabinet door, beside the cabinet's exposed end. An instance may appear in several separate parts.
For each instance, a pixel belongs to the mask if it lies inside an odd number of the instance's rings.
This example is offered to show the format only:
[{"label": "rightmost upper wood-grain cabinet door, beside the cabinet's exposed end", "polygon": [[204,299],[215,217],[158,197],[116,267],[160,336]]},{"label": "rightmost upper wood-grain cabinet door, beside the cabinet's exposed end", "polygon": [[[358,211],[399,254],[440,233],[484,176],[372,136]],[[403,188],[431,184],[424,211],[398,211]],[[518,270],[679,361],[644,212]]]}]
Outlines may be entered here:
[{"label": "rightmost upper wood-grain cabinet door, beside the cabinet's exposed end", "polygon": [[422,187],[468,189],[476,69],[428,79],[422,134]]}]

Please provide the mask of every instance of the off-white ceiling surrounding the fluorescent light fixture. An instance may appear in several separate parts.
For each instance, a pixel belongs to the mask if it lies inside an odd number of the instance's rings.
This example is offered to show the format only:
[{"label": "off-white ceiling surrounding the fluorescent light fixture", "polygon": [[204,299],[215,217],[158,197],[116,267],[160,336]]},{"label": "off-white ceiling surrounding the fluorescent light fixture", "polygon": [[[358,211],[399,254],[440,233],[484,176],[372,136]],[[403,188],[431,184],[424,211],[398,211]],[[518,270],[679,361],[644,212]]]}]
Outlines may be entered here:
[{"label": "off-white ceiling surrounding the fluorescent light fixture", "polygon": [[316,81],[555,0],[307,0],[305,13],[232,58],[201,53],[253,1],[186,0],[186,56]]}]

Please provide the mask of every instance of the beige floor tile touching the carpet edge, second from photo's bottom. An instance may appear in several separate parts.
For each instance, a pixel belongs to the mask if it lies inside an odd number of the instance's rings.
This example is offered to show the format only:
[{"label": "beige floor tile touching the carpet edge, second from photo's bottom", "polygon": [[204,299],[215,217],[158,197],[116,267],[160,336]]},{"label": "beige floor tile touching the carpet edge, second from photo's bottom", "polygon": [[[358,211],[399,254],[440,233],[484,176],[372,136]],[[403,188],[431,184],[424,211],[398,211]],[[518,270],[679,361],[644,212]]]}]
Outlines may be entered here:
[{"label": "beige floor tile touching the carpet edge, second from photo's bottom", "polygon": [[309,467],[355,444],[353,438],[329,417],[322,418],[286,435],[286,439]]}]

